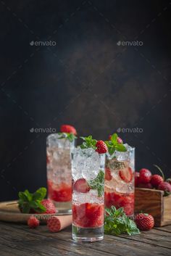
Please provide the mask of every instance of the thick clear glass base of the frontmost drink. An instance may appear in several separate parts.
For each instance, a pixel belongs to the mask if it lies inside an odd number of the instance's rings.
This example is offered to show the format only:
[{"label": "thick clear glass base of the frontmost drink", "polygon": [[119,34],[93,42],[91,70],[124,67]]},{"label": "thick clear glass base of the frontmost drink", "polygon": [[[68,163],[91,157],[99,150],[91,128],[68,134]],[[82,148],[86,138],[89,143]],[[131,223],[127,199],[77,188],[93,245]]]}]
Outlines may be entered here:
[{"label": "thick clear glass base of the frontmost drink", "polygon": [[104,226],[80,228],[72,225],[72,239],[75,241],[100,241],[104,239]]}]

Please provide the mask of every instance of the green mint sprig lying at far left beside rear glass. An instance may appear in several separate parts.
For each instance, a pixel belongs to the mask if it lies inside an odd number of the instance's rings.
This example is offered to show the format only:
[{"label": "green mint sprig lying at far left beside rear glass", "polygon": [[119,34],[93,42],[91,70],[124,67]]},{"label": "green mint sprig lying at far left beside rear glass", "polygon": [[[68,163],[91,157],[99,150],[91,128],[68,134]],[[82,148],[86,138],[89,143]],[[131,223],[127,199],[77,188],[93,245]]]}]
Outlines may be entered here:
[{"label": "green mint sprig lying at far left beside rear glass", "polygon": [[41,205],[41,201],[46,197],[46,188],[40,188],[33,194],[26,189],[23,192],[19,192],[18,197],[18,206],[21,212],[46,212],[46,208]]}]

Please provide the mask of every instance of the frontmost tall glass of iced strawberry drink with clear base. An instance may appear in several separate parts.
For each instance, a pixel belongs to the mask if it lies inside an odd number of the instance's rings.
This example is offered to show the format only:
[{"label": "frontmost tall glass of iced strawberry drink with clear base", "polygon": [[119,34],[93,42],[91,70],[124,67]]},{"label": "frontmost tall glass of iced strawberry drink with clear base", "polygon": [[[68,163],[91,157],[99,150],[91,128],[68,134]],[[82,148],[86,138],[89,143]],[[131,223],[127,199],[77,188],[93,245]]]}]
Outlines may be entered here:
[{"label": "frontmost tall glass of iced strawberry drink with clear base", "polygon": [[[96,145],[96,140],[93,140]],[[72,239],[99,241],[104,238],[105,153],[96,146],[72,153]]]}]

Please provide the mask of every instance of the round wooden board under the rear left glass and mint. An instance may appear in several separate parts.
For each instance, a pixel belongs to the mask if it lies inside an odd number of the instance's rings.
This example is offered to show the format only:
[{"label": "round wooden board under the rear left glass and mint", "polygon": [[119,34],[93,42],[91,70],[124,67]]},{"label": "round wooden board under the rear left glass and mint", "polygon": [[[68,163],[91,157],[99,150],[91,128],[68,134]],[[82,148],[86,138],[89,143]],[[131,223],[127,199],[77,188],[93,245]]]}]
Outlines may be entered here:
[{"label": "round wooden board under the rear left glass and mint", "polygon": [[[17,201],[0,202],[0,220],[15,223],[27,223],[31,214],[20,212],[17,207]],[[59,214],[35,214],[36,218],[41,220],[42,223],[46,223],[46,220],[52,215]]]}]

